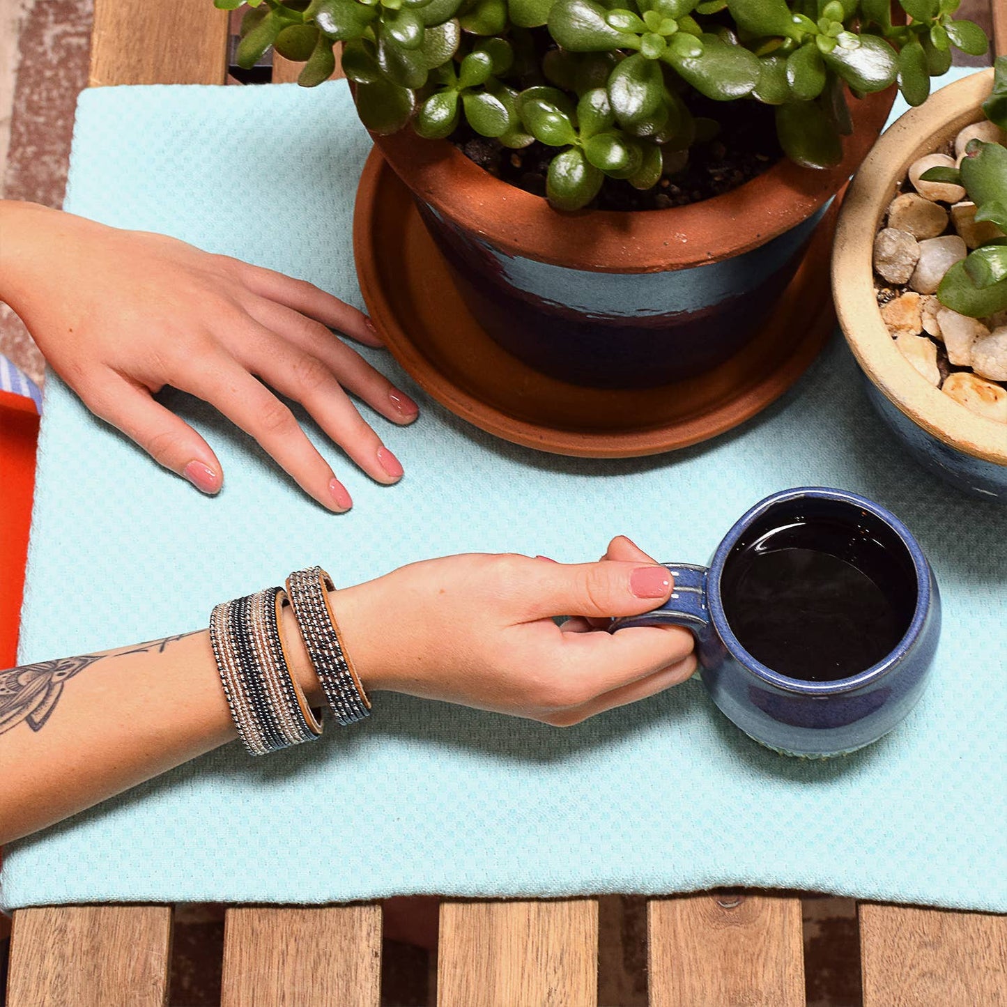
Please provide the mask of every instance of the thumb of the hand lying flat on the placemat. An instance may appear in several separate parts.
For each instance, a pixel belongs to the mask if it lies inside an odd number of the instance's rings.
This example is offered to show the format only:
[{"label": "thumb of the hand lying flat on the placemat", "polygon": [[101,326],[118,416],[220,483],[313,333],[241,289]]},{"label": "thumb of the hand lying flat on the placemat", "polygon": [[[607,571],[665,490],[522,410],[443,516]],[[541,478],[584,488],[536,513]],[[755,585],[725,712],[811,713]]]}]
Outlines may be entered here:
[{"label": "thumb of the hand lying flat on the placemat", "polygon": [[209,445],[184,420],[156,402],[146,388],[119,379],[89,395],[85,404],[154,461],[202,492],[215,493],[224,484],[221,463]]}]

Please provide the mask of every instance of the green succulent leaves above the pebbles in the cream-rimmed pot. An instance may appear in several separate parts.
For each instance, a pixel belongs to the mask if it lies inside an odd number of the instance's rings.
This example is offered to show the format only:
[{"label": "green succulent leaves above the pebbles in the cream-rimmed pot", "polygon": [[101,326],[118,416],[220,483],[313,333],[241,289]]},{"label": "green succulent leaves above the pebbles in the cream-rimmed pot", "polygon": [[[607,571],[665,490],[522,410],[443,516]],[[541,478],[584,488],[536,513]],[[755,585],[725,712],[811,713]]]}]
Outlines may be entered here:
[{"label": "green succulent leaves above the pebbles in the cream-rimmed pot", "polygon": [[[1007,56],[996,61],[993,93],[983,103],[986,118],[1007,132]],[[924,181],[952,182],[976,204],[976,221],[1007,233],[1007,147],[970,140],[958,168],[930,168]],[[985,242],[945,275],[938,288],[945,307],[973,318],[1007,310],[1007,238]]]}]

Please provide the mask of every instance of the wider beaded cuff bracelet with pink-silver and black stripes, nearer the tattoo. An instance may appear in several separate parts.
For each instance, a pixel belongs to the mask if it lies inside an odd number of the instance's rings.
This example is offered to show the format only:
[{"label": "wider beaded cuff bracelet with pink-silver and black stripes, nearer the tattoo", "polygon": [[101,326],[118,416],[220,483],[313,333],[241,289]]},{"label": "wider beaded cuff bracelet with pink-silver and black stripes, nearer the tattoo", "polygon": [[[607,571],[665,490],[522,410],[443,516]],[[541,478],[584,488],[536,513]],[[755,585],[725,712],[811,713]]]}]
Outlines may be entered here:
[{"label": "wider beaded cuff bracelet with pink-silver and black stripes, nearer the tattoo", "polygon": [[283,588],[270,587],[213,609],[209,639],[238,734],[265,755],[321,734],[303,690],[287,665],[280,634]]}]

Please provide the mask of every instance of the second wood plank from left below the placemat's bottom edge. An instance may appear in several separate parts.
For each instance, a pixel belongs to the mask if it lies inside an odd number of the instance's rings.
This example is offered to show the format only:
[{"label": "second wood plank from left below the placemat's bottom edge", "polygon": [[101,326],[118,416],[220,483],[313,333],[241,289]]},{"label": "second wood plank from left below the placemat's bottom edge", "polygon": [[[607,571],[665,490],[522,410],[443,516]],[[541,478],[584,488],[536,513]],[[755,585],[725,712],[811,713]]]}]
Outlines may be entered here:
[{"label": "second wood plank from left below the placemat's bottom edge", "polygon": [[378,1007],[381,906],[228,909],[221,1007]]}]

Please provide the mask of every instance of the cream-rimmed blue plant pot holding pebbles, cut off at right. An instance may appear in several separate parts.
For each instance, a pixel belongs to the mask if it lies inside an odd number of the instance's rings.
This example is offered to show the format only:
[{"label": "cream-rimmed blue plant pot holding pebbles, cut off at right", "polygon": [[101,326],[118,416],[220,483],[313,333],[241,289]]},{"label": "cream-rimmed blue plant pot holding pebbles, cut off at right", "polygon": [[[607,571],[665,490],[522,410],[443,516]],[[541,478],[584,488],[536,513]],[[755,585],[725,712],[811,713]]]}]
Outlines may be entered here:
[{"label": "cream-rimmed blue plant pot holding pebbles, cut off at right", "polygon": [[970,412],[928,385],[895,346],[874,294],[874,236],[909,165],[984,118],[993,70],[941,89],[875,145],[847,191],[836,232],[836,311],[871,400],[908,450],[963,489],[1007,500],[1007,427]]}]

